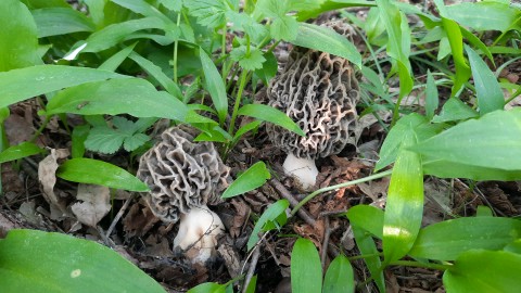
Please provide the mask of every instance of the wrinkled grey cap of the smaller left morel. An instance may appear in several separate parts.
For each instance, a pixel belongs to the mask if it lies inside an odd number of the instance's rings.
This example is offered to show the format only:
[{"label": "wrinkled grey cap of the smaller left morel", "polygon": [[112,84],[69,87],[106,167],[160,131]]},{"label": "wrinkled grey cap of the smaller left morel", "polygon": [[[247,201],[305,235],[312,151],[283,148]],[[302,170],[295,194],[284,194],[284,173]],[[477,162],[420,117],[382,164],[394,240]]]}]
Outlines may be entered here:
[{"label": "wrinkled grey cap of the smaller left morel", "polygon": [[179,213],[217,204],[229,184],[230,168],[212,142],[194,142],[196,130],[177,126],[165,130],[139,160],[137,177],[150,192],[144,199],[155,216],[176,222]]}]

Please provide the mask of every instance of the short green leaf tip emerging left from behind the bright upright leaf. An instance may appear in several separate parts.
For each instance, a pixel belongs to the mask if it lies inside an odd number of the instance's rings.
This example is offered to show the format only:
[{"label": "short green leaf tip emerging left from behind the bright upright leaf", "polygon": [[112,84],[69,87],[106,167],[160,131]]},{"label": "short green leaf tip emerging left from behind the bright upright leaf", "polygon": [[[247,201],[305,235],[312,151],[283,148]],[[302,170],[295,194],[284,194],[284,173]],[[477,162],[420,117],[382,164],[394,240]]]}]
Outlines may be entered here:
[{"label": "short green leaf tip emerging left from behind the bright upright leaf", "polygon": [[371,233],[378,239],[383,238],[383,211],[370,205],[356,205],[347,211],[351,225]]}]

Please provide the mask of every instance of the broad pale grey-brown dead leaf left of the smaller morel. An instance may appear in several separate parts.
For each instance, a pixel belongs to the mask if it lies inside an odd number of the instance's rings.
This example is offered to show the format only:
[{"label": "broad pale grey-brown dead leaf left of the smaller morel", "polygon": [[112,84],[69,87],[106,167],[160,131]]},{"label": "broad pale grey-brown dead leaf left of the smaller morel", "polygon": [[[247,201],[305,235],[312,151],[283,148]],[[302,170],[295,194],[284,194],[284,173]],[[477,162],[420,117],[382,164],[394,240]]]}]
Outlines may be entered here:
[{"label": "broad pale grey-brown dead leaf left of the smaller morel", "polygon": [[76,199],[82,202],[73,204],[71,209],[76,218],[87,226],[96,227],[111,211],[111,191],[107,187],[80,183]]}]

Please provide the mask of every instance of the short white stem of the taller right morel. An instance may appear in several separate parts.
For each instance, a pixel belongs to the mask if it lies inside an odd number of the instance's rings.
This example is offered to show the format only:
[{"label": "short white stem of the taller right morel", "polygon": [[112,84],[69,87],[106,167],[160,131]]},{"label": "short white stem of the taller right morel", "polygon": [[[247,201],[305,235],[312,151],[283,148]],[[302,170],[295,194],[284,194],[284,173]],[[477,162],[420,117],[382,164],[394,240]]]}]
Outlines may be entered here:
[{"label": "short white stem of the taller right morel", "polygon": [[314,160],[296,157],[290,153],[282,167],[288,176],[298,181],[303,190],[308,191],[317,181],[318,169]]}]

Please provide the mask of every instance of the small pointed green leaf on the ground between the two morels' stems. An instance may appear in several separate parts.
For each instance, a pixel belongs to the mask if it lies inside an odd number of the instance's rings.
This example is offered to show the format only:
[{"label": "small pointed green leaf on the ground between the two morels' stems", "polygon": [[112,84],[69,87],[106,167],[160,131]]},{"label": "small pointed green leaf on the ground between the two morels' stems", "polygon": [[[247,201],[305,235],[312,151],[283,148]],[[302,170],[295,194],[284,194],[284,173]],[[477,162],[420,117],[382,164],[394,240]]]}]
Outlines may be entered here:
[{"label": "small pointed green leaf on the ground between the two morels' stems", "polygon": [[236,195],[245,193],[262,187],[266,180],[271,178],[266,164],[264,162],[257,162],[253,164],[247,170],[241,174],[237,180],[231,183],[223,193],[223,199],[233,198]]}]

